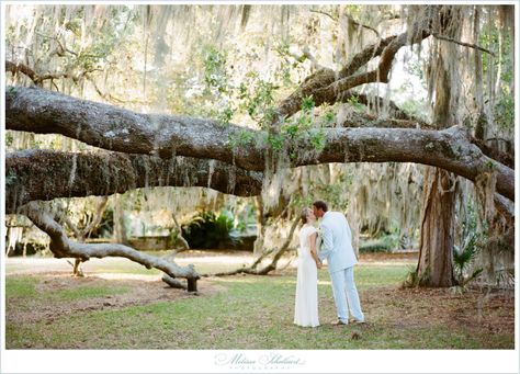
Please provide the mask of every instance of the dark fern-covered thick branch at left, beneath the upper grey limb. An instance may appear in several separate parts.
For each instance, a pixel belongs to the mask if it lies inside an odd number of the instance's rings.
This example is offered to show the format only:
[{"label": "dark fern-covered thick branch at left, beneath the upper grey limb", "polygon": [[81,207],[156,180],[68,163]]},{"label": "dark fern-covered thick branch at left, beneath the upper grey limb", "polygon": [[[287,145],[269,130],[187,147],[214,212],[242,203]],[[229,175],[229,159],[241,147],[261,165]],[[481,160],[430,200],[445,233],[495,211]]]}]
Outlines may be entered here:
[{"label": "dark fern-covered thick branch at left, beneath the upper grey limb", "polygon": [[260,193],[262,178],[215,160],[24,150],[5,155],[5,212],[16,213],[34,200],[106,196],[145,186],[205,186],[250,196]]}]

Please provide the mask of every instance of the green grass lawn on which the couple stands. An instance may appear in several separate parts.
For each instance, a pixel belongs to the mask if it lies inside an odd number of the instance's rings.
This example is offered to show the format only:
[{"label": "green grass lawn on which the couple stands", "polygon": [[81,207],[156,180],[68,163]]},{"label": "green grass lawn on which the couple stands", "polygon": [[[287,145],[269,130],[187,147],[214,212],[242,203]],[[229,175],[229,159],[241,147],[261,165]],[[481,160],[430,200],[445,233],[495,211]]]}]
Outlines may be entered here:
[{"label": "green grass lawn on which the couple stands", "polygon": [[[122,267],[117,267],[120,270]],[[103,286],[75,285],[49,290],[38,275],[7,277],[7,348],[37,349],[493,349],[515,347],[508,327],[489,333],[472,319],[478,295],[448,291],[400,290],[407,265],[357,267],[357,283],[369,324],[334,327],[336,318],[328,273],[319,273],[321,326],[293,325],[294,270],[270,276],[211,279],[219,292],[169,302],[115,308],[93,308],[55,318],[20,320],[16,313],[88,303],[129,293],[132,287],[108,281]],[[124,272],[123,272],[124,273]],[[138,286],[138,283],[136,283]],[[157,288],[162,287],[157,283]],[[154,288],[152,288],[154,290]],[[176,291],[179,292],[179,291]],[[93,304],[94,306],[97,304]],[[70,304],[76,305],[76,304]],[[511,302],[510,308],[513,308]],[[441,308],[431,310],[432,307]],[[459,310],[462,307],[462,311]],[[513,318],[513,311],[490,308]],[[459,311],[457,311],[459,310]],[[455,315],[453,313],[455,311]],[[511,317],[512,313],[512,317]],[[455,317],[456,318],[455,318]],[[472,317],[473,316],[473,317]],[[441,318],[442,317],[442,318]],[[495,318],[497,317],[497,318]],[[482,322],[483,316],[478,319]],[[509,319],[508,319],[509,320]],[[482,324],[481,324],[482,325]],[[493,328],[491,324],[491,328]],[[513,326],[513,325],[512,325]],[[496,327],[496,326],[495,326]]]}]

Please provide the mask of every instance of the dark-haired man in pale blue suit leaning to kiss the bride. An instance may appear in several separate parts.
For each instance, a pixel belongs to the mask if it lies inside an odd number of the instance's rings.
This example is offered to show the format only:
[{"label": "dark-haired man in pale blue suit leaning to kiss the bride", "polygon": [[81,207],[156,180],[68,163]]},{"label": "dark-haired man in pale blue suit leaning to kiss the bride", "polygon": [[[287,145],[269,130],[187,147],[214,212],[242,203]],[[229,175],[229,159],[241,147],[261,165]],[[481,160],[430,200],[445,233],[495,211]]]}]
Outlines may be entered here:
[{"label": "dark-haired man in pale blue suit leaning to kiss the bride", "polygon": [[321,251],[319,261],[327,259],[330,280],[332,281],[334,299],[338,309],[338,321],[332,325],[348,325],[349,309],[354,324],[363,324],[360,297],[354,283],[354,264],[358,262],[352,248],[352,234],[349,223],[340,212],[327,212],[327,204],[317,201],[313,203],[313,212],[321,230]]}]

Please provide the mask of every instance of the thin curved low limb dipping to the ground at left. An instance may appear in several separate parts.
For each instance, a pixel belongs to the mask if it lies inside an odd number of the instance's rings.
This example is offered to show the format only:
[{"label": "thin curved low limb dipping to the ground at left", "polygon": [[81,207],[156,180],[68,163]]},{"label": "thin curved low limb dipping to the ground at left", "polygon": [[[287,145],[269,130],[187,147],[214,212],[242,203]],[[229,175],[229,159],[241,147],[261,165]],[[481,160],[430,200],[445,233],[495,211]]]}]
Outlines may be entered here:
[{"label": "thin curved low limb dipping to the ground at left", "polygon": [[79,258],[81,261],[87,261],[90,258],[124,257],[140,263],[146,269],[156,268],[173,279],[185,277],[186,280],[195,281],[200,279],[193,265],[182,268],[163,259],[139,252],[132,247],[117,243],[70,241],[65,235],[63,227],[48,213],[42,209],[36,202],[25,204],[21,207],[20,213],[27,216],[36,227],[50,237],[50,251],[56,258]]}]

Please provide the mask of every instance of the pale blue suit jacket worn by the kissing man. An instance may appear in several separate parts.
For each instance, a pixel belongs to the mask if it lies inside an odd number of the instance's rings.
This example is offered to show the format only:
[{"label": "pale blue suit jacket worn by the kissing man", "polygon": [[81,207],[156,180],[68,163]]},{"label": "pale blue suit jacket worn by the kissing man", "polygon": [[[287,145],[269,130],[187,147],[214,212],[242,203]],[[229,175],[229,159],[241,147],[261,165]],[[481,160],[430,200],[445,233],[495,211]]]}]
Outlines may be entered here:
[{"label": "pale blue suit jacket worn by the kissing man", "polygon": [[321,223],[320,260],[327,259],[329,273],[334,273],[358,263],[352,248],[352,234],[349,223],[341,212],[326,212]]}]

